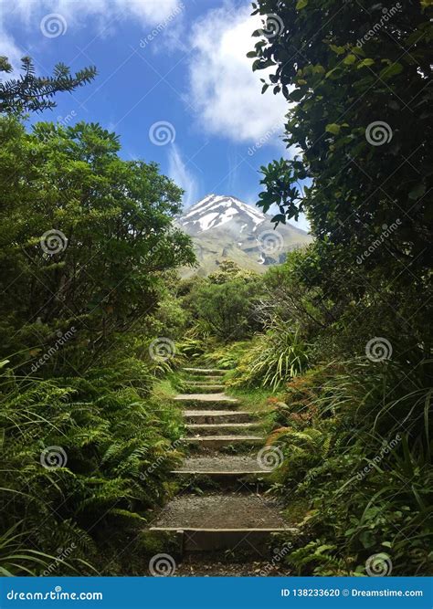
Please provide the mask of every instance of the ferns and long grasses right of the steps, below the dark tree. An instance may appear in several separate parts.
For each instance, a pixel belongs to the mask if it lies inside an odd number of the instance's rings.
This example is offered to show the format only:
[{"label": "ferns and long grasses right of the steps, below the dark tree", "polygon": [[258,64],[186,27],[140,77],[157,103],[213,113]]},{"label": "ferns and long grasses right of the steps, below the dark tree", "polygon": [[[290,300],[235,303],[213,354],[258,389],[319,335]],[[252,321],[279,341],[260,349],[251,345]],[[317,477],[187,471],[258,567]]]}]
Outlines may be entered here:
[{"label": "ferns and long grasses right of the steps, below the dark tree", "polygon": [[[403,375],[406,384],[396,383]],[[287,557],[291,567],[364,574],[368,557],[386,551],[394,574],[428,574],[431,362],[412,371],[396,363],[334,363],[288,388],[277,416],[283,426],[269,436],[285,456],[274,490],[310,505],[303,542]]]}]

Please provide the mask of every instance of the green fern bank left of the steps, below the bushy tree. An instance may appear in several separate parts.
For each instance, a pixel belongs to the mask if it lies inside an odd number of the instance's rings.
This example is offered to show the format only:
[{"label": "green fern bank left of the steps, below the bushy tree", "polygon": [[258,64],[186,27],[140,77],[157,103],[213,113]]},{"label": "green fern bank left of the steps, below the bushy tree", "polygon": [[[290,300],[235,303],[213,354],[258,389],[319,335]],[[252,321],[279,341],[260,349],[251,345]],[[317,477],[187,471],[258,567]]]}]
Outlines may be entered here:
[{"label": "green fern bank left of the steps, below the bushy tree", "polygon": [[[180,422],[150,396],[150,378],[132,358],[68,384],[28,383],[5,369],[0,521],[15,531],[5,534],[0,552],[6,571],[40,574],[58,548],[73,551],[56,564],[57,574],[89,573],[89,562],[103,569],[101,548],[112,551],[105,531],[143,526],[164,501]],[[22,562],[12,561],[10,547]]]}]

